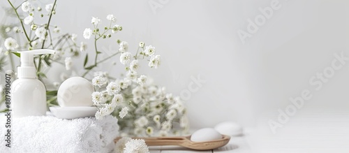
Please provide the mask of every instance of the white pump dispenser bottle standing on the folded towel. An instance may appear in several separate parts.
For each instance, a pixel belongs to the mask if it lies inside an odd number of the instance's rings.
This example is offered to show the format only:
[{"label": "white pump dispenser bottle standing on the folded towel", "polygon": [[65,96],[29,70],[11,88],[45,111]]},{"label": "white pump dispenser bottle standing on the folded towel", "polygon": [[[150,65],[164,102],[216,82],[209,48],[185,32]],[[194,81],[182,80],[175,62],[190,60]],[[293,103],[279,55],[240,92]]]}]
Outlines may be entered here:
[{"label": "white pump dispenser bottle standing on the folded towel", "polygon": [[30,50],[21,54],[21,66],[17,67],[17,80],[11,85],[13,117],[45,115],[46,88],[36,78],[34,54],[54,54],[54,50]]}]

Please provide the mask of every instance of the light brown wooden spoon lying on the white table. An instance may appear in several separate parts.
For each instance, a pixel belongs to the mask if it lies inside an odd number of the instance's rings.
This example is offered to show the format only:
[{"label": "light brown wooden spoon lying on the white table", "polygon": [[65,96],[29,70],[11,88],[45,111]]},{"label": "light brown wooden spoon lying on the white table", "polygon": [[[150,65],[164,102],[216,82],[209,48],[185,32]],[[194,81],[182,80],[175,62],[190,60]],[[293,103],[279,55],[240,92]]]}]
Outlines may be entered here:
[{"label": "light brown wooden spoon lying on the white table", "polygon": [[[115,139],[117,142],[120,138]],[[193,142],[191,136],[179,136],[179,137],[136,137],[133,139],[143,139],[147,145],[179,145],[192,150],[213,150],[218,147],[223,147],[229,143],[230,136],[222,135],[221,139],[205,141],[205,142]]]}]

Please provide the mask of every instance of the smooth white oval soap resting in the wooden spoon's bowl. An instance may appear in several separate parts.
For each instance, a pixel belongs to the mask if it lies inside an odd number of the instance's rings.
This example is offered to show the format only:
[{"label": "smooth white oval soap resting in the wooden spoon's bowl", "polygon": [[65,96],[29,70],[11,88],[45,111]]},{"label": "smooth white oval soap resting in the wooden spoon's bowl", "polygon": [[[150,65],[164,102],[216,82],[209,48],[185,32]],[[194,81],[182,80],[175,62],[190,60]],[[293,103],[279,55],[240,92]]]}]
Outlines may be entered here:
[{"label": "smooth white oval soap resting in the wooden spoon's bowl", "polygon": [[222,135],[218,131],[212,128],[204,128],[200,129],[198,131],[195,131],[191,135],[191,140],[193,142],[207,142],[211,140],[218,140],[221,139]]}]

